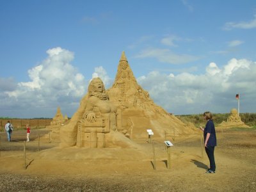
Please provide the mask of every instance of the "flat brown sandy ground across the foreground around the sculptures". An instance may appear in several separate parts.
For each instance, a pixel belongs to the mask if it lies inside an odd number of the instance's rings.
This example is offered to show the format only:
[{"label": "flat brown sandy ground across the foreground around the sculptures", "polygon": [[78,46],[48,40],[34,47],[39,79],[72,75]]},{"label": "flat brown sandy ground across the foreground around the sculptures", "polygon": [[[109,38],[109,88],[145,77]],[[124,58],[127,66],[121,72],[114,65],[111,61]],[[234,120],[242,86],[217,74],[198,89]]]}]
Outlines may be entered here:
[{"label": "flat brown sandy ground across the foreground around the sculptures", "polygon": [[[20,132],[22,133],[22,131]],[[256,131],[217,133],[216,173],[207,174],[200,136],[177,137],[171,147],[171,166],[162,141],[137,141],[143,150],[68,148],[58,143],[26,143],[1,133],[0,191],[256,191]],[[52,148],[53,147],[53,148]]]}]

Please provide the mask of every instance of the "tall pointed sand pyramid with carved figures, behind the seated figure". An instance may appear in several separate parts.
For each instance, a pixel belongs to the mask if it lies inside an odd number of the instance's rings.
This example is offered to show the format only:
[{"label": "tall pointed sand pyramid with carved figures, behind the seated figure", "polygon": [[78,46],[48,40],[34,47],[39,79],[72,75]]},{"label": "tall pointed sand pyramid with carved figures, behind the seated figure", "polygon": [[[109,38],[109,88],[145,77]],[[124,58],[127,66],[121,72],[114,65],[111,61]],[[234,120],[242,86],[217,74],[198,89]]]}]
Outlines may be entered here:
[{"label": "tall pointed sand pyramid with carved figures, behind the seated figure", "polygon": [[[195,132],[174,115],[169,115],[157,106],[147,91],[137,83],[131,67],[122,52],[113,86],[107,91],[109,100],[121,111],[119,124],[127,131],[131,139],[146,138],[147,129],[152,129],[154,137],[164,138],[166,134]],[[175,130],[173,130],[175,129]]]}]

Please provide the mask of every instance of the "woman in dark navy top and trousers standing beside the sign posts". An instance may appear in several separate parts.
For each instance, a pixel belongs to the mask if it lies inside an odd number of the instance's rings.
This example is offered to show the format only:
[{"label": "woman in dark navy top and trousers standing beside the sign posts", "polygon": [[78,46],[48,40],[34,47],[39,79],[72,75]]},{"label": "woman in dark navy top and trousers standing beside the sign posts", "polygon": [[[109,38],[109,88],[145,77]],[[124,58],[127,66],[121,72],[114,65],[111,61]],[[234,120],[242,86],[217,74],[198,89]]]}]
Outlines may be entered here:
[{"label": "woman in dark navy top and trousers standing beside the sign posts", "polygon": [[204,120],[207,121],[205,128],[200,126],[200,129],[204,131],[204,147],[210,161],[210,168],[205,173],[215,173],[214,147],[217,145],[217,140],[212,113],[209,111],[204,112]]}]

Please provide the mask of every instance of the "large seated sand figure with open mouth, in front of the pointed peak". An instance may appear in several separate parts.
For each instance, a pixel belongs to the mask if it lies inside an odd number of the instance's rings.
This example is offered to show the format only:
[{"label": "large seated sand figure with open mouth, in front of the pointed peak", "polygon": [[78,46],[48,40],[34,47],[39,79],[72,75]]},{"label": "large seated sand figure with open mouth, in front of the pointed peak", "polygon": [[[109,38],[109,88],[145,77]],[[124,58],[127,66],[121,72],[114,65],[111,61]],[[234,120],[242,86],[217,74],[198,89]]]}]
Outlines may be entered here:
[{"label": "large seated sand figure with open mouth, in front of the pointed peak", "polygon": [[116,112],[117,108],[109,101],[102,80],[93,78],[78,111],[70,123],[61,128],[61,147],[134,147],[131,140],[118,132]]}]

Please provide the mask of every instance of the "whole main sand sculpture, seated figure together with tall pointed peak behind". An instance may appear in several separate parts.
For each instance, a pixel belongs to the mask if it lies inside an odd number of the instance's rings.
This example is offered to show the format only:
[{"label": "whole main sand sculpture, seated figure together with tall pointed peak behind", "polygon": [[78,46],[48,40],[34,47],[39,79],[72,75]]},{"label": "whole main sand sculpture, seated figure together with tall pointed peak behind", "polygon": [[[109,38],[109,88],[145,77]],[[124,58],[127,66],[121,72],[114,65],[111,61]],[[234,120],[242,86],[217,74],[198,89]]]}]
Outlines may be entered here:
[{"label": "whole main sand sculpture, seated figure together with tall pointed peak behind", "polygon": [[122,52],[115,82],[105,90],[99,77],[92,79],[88,93],[67,125],[61,127],[61,147],[134,148],[134,139],[166,134],[195,132],[195,127],[182,123],[174,115],[154,104],[148,92],[138,85]]}]

